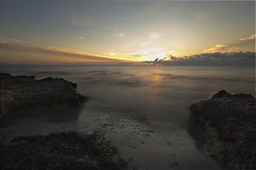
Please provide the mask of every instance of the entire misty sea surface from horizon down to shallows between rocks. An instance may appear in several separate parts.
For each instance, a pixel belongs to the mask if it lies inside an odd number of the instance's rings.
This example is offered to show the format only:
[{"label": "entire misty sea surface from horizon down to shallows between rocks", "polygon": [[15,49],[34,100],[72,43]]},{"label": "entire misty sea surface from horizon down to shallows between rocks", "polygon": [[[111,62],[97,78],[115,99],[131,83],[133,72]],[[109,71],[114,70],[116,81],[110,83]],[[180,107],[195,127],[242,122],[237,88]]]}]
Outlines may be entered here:
[{"label": "entire misty sea surface from horizon down to shallows between rocks", "polygon": [[[180,163],[173,169],[219,169],[188,133],[189,106],[222,89],[256,95],[255,67],[0,66],[0,71],[36,79],[61,77],[77,83],[79,93],[89,96],[80,108],[20,118],[1,128],[1,133],[46,134],[79,119],[67,129],[105,130],[106,139],[122,152],[120,156],[133,157],[139,169],[170,169],[176,160]],[[99,122],[111,125],[102,128]],[[138,133],[141,129],[151,132],[149,139],[147,133]]]}]

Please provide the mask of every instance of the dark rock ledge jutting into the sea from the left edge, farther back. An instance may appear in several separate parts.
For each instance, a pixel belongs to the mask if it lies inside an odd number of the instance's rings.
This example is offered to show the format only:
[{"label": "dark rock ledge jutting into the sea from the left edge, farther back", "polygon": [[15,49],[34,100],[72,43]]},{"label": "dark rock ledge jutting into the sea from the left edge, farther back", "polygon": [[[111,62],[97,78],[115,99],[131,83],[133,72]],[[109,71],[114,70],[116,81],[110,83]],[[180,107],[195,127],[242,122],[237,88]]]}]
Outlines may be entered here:
[{"label": "dark rock ledge jutting into the sea from the left edge, farther back", "polygon": [[62,78],[12,76],[0,73],[1,125],[10,117],[23,113],[40,113],[48,109],[63,109],[80,105],[87,99],[76,91],[76,83]]}]

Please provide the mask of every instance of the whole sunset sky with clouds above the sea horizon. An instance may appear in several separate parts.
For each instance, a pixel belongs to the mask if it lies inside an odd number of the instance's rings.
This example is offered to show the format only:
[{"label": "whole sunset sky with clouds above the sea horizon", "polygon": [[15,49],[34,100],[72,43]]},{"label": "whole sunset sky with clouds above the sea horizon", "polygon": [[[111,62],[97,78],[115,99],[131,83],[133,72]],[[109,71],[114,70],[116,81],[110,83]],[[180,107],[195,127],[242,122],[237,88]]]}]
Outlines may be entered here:
[{"label": "whole sunset sky with clouds above the sea horizon", "polygon": [[0,62],[255,65],[255,2],[0,0]]}]

